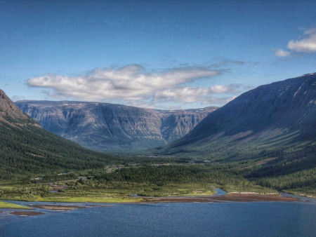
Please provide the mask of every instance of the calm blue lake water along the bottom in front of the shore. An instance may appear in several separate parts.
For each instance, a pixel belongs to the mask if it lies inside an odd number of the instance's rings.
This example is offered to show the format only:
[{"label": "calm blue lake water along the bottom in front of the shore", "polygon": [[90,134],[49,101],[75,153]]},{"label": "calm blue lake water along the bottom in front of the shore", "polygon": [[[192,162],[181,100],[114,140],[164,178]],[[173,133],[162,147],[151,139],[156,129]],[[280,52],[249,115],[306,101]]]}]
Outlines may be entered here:
[{"label": "calm blue lake water along the bottom in front of the shore", "polygon": [[33,217],[6,210],[0,236],[316,236],[315,201],[77,205],[87,208]]}]

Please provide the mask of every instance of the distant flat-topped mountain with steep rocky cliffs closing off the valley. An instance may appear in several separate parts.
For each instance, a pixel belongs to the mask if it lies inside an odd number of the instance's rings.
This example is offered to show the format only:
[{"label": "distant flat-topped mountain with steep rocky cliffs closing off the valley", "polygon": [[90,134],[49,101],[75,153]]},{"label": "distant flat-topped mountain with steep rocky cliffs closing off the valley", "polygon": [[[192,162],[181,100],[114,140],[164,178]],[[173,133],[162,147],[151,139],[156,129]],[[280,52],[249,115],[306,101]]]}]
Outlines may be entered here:
[{"label": "distant flat-topped mountain with steep rocky cliffs closing off the valley", "polygon": [[183,137],[216,107],[162,111],[97,102],[20,101],[43,128],[96,150],[145,149]]}]

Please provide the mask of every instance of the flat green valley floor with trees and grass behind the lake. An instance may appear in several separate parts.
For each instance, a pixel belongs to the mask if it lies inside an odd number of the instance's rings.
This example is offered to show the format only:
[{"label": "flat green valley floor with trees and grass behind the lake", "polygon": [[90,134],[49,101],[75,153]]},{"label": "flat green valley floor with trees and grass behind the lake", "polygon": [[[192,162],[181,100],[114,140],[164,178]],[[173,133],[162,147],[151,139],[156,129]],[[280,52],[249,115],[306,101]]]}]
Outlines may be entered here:
[{"label": "flat green valley floor with trees and grass behind the lake", "polygon": [[[277,190],[316,196],[313,186],[274,189],[271,184],[279,184],[277,179],[271,182],[247,179],[249,172],[244,171],[243,166],[251,167],[251,163],[239,163],[237,168],[235,163],[130,163],[34,175],[24,180],[0,182],[0,200],[65,203],[287,201]],[[312,179],[312,174],[307,173],[304,178],[310,176]],[[291,180],[297,181],[296,177]],[[225,190],[228,195],[213,196],[216,193],[213,187]]]}]

